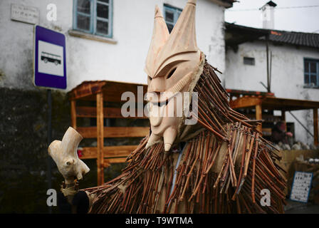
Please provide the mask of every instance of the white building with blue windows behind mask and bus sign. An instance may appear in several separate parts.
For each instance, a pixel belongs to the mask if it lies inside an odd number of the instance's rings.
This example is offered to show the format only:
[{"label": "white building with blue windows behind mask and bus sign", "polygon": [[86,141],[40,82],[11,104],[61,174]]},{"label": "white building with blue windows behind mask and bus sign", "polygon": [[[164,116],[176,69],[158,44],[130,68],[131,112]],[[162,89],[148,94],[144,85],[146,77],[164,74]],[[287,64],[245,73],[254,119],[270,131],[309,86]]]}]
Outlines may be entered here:
[{"label": "white building with blue windows behind mask and bus sign", "polygon": [[[224,9],[232,2],[197,1],[198,46],[209,63],[221,71],[225,69]],[[143,69],[155,5],[160,6],[167,24],[172,26],[186,3],[187,0],[0,1],[0,87],[36,89],[34,24],[66,35],[66,91],[83,81],[147,83]],[[18,7],[24,19],[14,19],[12,7]]]}]

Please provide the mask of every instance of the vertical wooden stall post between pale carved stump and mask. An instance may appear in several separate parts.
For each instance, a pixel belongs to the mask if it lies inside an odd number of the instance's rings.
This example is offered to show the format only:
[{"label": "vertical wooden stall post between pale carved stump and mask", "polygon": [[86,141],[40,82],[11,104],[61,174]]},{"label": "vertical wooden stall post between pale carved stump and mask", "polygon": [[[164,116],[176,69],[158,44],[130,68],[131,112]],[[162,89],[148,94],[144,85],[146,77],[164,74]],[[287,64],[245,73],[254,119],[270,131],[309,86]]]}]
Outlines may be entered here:
[{"label": "vertical wooden stall post between pale carved stump and mask", "polygon": [[[104,147],[104,128],[103,128],[103,93],[97,93],[96,95],[96,110],[97,110],[97,128],[95,133],[98,138],[98,155],[97,155],[97,166],[98,166],[98,185],[103,185],[104,182],[104,159],[103,159],[103,147]],[[83,136],[84,137],[84,136]]]}]

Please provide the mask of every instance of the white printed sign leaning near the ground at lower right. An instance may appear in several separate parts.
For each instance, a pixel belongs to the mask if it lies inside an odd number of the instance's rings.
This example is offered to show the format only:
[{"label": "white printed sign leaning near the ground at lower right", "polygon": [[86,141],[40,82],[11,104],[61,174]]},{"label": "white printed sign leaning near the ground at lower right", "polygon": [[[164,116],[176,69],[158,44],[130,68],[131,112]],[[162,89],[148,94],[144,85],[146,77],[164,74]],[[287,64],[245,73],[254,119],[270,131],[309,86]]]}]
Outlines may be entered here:
[{"label": "white printed sign leaning near the ground at lower right", "polygon": [[312,172],[295,172],[293,187],[291,187],[291,200],[298,202],[308,202],[311,182],[313,180]]}]

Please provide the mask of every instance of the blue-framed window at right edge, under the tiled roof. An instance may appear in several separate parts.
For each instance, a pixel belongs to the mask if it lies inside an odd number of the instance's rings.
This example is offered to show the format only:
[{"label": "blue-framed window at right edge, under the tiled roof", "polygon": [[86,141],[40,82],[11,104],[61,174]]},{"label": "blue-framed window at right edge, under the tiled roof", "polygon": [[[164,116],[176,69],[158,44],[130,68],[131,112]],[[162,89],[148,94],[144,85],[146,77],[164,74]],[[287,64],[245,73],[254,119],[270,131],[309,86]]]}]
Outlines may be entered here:
[{"label": "blue-framed window at right edge, under the tiled roof", "polygon": [[319,59],[304,58],[305,86],[319,87]]}]

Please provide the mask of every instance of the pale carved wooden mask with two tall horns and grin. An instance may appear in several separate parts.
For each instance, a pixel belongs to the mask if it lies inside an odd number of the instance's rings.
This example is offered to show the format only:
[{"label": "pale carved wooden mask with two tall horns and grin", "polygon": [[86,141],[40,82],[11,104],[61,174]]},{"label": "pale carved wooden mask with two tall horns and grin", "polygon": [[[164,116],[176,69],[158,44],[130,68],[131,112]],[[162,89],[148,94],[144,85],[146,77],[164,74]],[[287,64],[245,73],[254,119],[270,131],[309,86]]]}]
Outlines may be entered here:
[{"label": "pale carved wooden mask with two tall horns and grin", "polygon": [[174,94],[189,92],[189,85],[203,61],[196,41],[195,10],[196,0],[189,0],[169,34],[160,9],[155,7],[154,30],[145,64],[147,92],[153,94],[153,99],[149,99],[152,134],[147,147],[164,138],[164,149],[168,151],[177,137],[181,117],[162,116],[154,110],[161,114],[176,113],[180,105],[172,105],[174,110],[168,110],[169,103],[173,102]]}]

